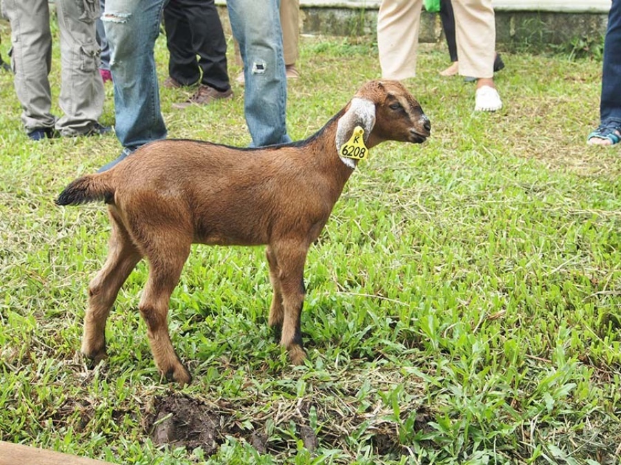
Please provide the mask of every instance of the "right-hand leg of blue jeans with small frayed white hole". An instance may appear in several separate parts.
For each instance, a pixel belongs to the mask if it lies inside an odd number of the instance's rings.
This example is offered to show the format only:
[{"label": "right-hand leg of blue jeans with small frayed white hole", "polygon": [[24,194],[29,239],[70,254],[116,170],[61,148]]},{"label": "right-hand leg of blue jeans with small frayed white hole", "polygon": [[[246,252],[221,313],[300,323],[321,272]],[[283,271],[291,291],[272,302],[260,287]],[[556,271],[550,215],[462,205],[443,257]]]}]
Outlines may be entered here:
[{"label": "right-hand leg of blue jeans with small frayed white hole", "polygon": [[251,146],[290,142],[286,129],[287,81],[278,0],[228,0],[233,35],[244,61],[244,112]]}]

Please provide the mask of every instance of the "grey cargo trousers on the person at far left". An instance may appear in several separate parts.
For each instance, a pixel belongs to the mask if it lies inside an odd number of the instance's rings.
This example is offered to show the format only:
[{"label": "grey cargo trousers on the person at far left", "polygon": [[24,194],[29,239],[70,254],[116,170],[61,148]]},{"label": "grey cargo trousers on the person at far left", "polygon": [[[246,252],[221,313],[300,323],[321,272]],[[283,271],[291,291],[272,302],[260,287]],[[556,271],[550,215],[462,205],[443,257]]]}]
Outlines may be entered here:
[{"label": "grey cargo trousers on the person at far left", "polygon": [[60,30],[63,115],[51,113],[52,34],[48,0],[3,0],[11,24],[14,87],[27,132],[55,128],[63,136],[86,134],[103,109],[99,45],[95,40],[98,0],[56,0]]}]

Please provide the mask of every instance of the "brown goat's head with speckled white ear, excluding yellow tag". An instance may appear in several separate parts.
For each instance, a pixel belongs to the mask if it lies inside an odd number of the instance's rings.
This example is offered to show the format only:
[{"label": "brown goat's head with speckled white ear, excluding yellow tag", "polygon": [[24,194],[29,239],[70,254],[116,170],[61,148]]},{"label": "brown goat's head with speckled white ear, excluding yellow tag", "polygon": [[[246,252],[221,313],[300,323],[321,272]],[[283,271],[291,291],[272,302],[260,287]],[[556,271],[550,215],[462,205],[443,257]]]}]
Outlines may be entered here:
[{"label": "brown goat's head with speckled white ear, excluding yellow tag", "polygon": [[[341,147],[356,126],[364,129],[366,147],[384,141],[423,143],[431,123],[406,87],[399,81],[370,81],[363,85],[339,119],[336,143]],[[351,159],[342,158],[351,167]]]}]

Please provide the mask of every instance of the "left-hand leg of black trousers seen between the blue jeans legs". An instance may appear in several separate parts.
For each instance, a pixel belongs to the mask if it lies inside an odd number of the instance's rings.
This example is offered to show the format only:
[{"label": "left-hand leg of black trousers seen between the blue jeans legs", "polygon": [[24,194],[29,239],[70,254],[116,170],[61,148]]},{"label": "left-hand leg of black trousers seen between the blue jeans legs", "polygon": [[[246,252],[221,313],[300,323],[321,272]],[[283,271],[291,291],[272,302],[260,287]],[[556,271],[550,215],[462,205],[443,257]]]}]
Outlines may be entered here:
[{"label": "left-hand leg of black trousers seen between the blue jeans legs", "polygon": [[[201,79],[197,50],[192,43],[190,7],[194,3],[193,0],[170,0],[164,7],[168,76],[181,85],[193,85]],[[203,27],[207,29],[208,25]]]}]

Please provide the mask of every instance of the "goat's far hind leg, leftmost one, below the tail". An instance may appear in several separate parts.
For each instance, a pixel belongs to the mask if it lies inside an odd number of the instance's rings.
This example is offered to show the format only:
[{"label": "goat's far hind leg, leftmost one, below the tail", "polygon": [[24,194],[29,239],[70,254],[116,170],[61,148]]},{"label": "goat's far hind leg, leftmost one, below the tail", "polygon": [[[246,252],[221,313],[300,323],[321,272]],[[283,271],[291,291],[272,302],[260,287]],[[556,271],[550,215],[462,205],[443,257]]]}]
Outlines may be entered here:
[{"label": "goat's far hind leg, leftmost one, below the tail", "polygon": [[141,259],[124,225],[112,211],[110,223],[112,233],[108,243],[108,258],[88,286],[88,308],[84,316],[81,352],[93,364],[106,358],[106,320],[119,289]]}]

